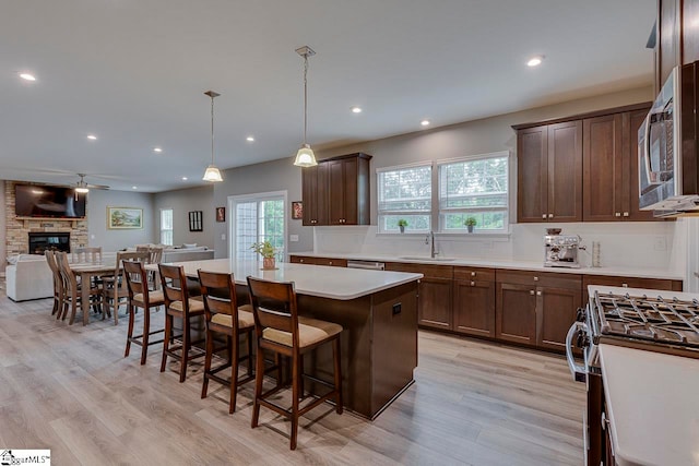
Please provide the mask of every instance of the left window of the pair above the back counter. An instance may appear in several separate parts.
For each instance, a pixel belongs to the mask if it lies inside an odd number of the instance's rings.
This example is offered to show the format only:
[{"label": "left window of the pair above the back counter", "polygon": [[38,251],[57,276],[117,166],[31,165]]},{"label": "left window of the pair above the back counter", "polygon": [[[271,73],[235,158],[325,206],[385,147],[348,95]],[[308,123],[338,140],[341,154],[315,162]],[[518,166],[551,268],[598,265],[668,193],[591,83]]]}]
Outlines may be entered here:
[{"label": "left window of the pair above the back counter", "polygon": [[431,164],[377,170],[377,184],[379,231],[399,232],[400,219],[408,232],[431,229]]}]

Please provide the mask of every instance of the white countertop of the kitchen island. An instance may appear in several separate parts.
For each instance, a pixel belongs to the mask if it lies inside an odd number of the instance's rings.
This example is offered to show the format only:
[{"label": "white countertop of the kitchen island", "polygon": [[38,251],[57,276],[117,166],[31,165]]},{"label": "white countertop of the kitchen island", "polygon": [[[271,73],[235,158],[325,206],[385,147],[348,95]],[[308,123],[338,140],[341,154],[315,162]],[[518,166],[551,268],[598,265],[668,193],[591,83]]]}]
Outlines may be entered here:
[{"label": "white countertop of the kitchen island", "polygon": [[[298,294],[340,300],[371,295],[423,277],[423,274],[403,272],[366,271],[284,262],[277,262],[277,268],[274,271],[263,271],[261,270],[262,262],[235,262],[229,259],[173,262],[171,264],[185,266],[185,273],[189,276],[197,276],[199,268],[208,272],[233,272],[235,282],[239,285],[247,285],[246,277],[248,275],[268,280],[294,282]],[[145,268],[157,270],[155,264],[146,265]]]}]

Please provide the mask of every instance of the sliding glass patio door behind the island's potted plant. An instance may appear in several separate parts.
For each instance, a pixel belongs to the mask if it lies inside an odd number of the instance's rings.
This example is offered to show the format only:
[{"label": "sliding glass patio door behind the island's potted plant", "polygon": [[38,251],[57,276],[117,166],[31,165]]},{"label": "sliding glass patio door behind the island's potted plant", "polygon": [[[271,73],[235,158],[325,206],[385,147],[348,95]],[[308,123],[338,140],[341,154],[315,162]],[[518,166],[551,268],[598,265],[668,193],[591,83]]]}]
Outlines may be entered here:
[{"label": "sliding glass patio door behind the island's potted plant", "polygon": [[236,260],[258,260],[250,249],[254,242],[270,241],[276,249],[276,258],[285,258],[286,193],[264,193],[235,196],[232,201],[234,222],[230,250]]}]

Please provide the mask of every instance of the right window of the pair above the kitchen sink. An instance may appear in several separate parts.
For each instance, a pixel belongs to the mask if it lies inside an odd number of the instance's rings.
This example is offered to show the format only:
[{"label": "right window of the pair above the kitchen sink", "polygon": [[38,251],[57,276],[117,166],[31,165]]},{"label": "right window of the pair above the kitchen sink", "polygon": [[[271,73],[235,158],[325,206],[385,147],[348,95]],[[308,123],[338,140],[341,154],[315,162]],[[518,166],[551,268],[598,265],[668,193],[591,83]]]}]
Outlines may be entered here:
[{"label": "right window of the pair above the kitchen sink", "polygon": [[476,230],[507,231],[508,155],[501,152],[438,165],[442,232],[465,231],[467,217],[476,219]]}]

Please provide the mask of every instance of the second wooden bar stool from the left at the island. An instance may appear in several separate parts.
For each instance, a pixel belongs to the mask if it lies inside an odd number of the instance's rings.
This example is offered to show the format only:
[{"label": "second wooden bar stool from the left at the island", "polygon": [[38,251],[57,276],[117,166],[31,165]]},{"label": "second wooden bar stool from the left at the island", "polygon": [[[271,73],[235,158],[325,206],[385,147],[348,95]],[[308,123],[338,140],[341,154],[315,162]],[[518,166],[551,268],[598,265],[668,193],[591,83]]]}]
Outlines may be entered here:
[{"label": "second wooden bar stool from the left at the island", "polygon": [[[158,271],[165,298],[165,337],[163,338],[161,372],[165,372],[165,365],[169,356],[180,361],[179,381],[185,382],[187,363],[205,355],[205,351],[200,353],[192,349],[193,344],[201,343],[203,339],[192,342],[190,332],[190,319],[204,314],[204,303],[201,300],[189,297],[185,267],[158,264]],[[175,318],[182,320],[182,334],[179,336],[175,336],[173,332]],[[174,339],[178,337],[181,338],[181,344],[176,345]],[[190,354],[190,351],[194,354]]]}]

